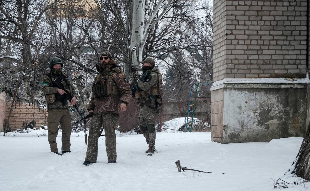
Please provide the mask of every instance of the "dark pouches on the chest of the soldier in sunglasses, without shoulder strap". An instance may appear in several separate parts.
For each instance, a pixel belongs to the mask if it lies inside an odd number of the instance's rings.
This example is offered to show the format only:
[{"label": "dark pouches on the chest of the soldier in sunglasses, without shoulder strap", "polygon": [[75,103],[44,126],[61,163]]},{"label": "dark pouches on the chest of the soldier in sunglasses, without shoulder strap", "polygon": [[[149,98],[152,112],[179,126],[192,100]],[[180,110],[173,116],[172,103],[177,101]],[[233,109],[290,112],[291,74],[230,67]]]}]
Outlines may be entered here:
[{"label": "dark pouches on the chest of the soldier in sunglasses, without shoulder strap", "polygon": [[110,86],[108,78],[102,78],[101,80],[95,82],[92,87],[92,92],[93,96],[97,99],[120,94],[117,86]]}]

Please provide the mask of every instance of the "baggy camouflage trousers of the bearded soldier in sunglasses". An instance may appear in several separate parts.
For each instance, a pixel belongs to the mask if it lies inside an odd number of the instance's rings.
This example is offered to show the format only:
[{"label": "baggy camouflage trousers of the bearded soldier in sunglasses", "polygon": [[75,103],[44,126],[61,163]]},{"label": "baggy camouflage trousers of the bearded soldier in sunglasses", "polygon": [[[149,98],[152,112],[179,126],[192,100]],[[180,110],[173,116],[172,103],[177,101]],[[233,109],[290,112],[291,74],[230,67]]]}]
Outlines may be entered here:
[{"label": "baggy camouflage trousers of the bearded soldier in sunglasses", "polygon": [[116,161],[116,135],[115,129],[118,125],[119,115],[114,113],[95,113],[91,119],[91,126],[88,136],[88,147],[86,161],[97,162],[98,157],[98,138],[100,128],[104,128],[105,149],[107,151],[108,162]]}]

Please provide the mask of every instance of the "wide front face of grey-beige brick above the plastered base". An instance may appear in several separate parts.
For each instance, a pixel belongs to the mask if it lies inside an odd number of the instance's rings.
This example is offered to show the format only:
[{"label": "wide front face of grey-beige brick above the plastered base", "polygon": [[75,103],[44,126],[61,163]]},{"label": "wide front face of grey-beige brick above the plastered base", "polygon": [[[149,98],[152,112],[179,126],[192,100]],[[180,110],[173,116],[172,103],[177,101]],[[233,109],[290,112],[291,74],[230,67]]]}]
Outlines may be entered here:
[{"label": "wide front face of grey-beige brick above the plastered base", "polygon": [[306,22],[306,0],[227,0],[225,78],[306,77]]}]

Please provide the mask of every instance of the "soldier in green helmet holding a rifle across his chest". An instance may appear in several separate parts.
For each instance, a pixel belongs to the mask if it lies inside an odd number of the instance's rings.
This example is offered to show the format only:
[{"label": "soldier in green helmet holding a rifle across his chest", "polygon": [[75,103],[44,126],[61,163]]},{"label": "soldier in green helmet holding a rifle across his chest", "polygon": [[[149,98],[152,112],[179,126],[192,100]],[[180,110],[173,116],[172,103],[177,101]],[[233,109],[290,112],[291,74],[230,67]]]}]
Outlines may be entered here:
[{"label": "soldier in green helmet holding a rifle across his chest", "polygon": [[[71,135],[71,115],[68,109],[67,101],[70,100],[72,105],[76,102],[76,93],[69,83],[68,76],[61,71],[64,64],[60,58],[52,58],[49,63],[51,71],[43,76],[41,89],[45,94],[47,102],[47,130],[48,142],[51,146],[51,152],[62,155],[70,151]],[[56,137],[58,134],[58,124],[62,130],[61,152],[58,153]]]}]

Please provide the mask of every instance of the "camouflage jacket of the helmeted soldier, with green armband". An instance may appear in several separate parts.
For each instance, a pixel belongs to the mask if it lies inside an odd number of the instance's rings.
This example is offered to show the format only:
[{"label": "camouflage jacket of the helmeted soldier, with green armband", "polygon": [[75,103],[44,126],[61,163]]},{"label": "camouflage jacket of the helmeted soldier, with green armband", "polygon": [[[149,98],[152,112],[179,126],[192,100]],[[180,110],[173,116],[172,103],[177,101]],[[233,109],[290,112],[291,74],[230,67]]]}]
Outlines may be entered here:
[{"label": "camouflage jacket of the helmeted soldier, with green armband", "polygon": [[[48,94],[59,94],[58,93],[58,87],[53,86],[53,81],[51,79],[51,77],[49,75],[52,75],[54,78],[57,77],[63,77],[65,76],[65,74],[63,72],[61,72],[61,76],[59,74],[57,74],[56,72],[51,71],[50,73],[47,73],[45,75],[43,75],[43,79],[42,79],[42,84],[41,84],[41,89],[42,89],[42,93],[45,94],[46,98],[48,96]],[[64,84],[64,89],[68,92],[71,92],[72,97],[76,97],[76,92],[74,90],[74,88],[72,87],[71,83],[69,84],[69,87],[67,86],[66,83]],[[72,90],[72,91],[70,91]],[[66,104],[65,106],[62,106],[62,102],[61,101],[55,101],[53,103],[48,103],[47,104],[47,109],[52,109],[52,108],[68,108],[68,104]]]}]

